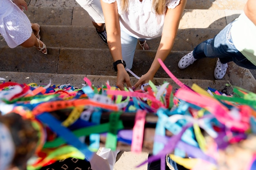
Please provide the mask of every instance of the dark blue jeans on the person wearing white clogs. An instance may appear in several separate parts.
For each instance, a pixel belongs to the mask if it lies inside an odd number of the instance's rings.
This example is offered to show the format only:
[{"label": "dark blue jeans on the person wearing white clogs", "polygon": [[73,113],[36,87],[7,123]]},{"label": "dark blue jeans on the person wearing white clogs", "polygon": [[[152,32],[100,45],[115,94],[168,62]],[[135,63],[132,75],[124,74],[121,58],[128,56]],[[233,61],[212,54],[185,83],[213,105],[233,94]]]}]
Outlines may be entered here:
[{"label": "dark blue jeans on the person wearing white clogs", "polygon": [[[236,22],[236,21],[233,21]],[[231,37],[232,23],[229,23],[220,31],[213,39],[208,39],[198,44],[194,48],[193,56],[195,59],[219,58],[222,64],[234,61],[237,65],[247,69],[256,69],[256,66],[251,63],[241,52],[234,46]]]}]

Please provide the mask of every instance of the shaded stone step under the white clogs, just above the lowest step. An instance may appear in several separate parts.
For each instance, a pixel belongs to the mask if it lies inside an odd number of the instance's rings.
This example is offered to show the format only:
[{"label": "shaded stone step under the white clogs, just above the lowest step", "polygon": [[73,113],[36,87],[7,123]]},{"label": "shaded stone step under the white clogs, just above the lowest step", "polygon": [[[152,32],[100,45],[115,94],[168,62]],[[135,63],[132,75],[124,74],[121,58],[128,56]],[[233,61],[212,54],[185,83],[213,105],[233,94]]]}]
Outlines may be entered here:
[{"label": "shaded stone step under the white clogs, just above the lowest step", "polygon": [[[155,57],[155,50],[136,50],[132,72],[141,76],[150,68]],[[180,79],[214,79],[216,59],[200,59],[189,68],[181,70],[177,63],[188,51],[173,51],[164,61],[166,67]],[[51,74],[84,74],[117,76],[112,67],[112,57],[108,49],[89,48],[48,48],[48,54],[42,54],[36,48],[8,46],[0,48],[0,71],[5,72],[34,72]],[[160,68],[155,74],[156,78],[169,78],[168,74]],[[238,67],[233,62],[223,80],[228,80],[232,85],[243,87],[254,92],[256,80],[252,73],[245,68]],[[247,82],[247,83],[243,83]]]}]

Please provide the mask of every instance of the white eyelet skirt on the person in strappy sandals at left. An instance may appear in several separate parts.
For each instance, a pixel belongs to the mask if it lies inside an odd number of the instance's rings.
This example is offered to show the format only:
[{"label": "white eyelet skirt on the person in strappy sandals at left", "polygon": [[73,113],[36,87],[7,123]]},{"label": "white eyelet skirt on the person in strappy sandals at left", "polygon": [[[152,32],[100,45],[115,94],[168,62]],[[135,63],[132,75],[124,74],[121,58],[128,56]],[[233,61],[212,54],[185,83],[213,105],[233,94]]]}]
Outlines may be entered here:
[{"label": "white eyelet skirt on the person in strappy sandals at left", "polygon": [[0,33],[7,45],[15,48],[31,37],[32,28],[27,15],[16,4],[10,10],[12,12],[0,21]]}]

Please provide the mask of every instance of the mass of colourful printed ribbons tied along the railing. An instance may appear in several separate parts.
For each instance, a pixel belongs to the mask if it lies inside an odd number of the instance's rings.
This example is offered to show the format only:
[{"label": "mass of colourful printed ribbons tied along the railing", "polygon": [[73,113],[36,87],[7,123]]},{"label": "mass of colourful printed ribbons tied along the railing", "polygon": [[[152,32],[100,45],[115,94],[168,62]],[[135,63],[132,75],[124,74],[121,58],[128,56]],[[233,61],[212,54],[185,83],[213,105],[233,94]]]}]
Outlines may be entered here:
[{"label": "mass of colourful printed ribbons tied along the railing", "polygon": [[[86,77],[81,89],[51,83],[0,84],[1,113],[18,113],[30,119],[39,131],[36,155],[27,169],[40,169],[67,157],[90,161],[99,149],[101,135],[106,135],[107,148],[115,150],[117,142],[123,142],[130,144],[132,151],[141,152],[145,118],[155,113],[158,121],[153,156],[140,165],[161,159],[164,170],[168,155],[191,170],[218,170],[220,150],[256,133],[256,94],[239,87],[234,87],[232,96],[195,84],[190,88],[175,78],[161,60],[159,63],[180,86],[175,93],[168,82],[155,86],[150,81],[146,92],[120,91],[108,82],[95,87]],[[101,123],[105,112],[111,112],[109,122]],[[124,130],[119,119],[124,112],[136,112],[130,131]],[[89,146],[79,140],[84,136],[90,137]],[[255,166],[255,153],[252,150],[247,170]]]}]

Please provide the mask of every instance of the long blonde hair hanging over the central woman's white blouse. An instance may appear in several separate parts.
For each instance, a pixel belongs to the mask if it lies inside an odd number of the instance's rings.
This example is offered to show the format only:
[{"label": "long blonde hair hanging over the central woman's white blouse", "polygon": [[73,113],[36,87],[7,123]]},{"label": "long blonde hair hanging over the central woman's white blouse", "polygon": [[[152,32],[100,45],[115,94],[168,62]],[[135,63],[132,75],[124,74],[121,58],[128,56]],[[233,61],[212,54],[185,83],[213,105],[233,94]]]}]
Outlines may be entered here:
[{"label": "long blonde hair hanging over the central woman's white blouse", "polygon": [[[127,11],[129,6],[129,0],[121,0],[121,10]],[[153,0],[152,9],[159,15],[166,12],[166,0]]]}]

